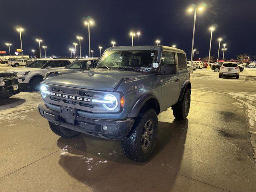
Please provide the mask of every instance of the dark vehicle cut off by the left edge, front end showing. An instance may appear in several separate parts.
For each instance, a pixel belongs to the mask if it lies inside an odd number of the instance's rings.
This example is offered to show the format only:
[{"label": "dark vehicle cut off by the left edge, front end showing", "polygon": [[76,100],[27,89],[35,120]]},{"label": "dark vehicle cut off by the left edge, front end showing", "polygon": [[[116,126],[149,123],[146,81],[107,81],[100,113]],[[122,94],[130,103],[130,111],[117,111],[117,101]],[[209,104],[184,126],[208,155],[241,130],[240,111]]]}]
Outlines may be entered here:
[{"label": "dark vehicle cut off by the left edge, front end showing", "polygon": [[20,92],[20,84],[15,73],[0,71],[0,99],[9,98]]}]

